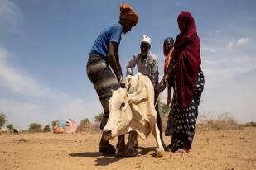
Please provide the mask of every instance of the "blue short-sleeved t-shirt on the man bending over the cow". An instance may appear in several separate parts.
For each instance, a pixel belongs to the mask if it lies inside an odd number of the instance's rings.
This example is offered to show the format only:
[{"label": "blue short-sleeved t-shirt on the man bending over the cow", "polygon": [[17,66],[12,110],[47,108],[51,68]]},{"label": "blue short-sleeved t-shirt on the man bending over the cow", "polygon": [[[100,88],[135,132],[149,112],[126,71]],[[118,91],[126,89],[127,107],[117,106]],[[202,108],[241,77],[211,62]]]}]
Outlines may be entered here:
[{"label": "blue short-sleeved t-shirt on the man bending over the cow", "polygon": [[123,26],[119,23],[113,24],[102,31],[94,42],[90,53],[106,57],[109,51],[109,42],[116,42],[119,46]]}]

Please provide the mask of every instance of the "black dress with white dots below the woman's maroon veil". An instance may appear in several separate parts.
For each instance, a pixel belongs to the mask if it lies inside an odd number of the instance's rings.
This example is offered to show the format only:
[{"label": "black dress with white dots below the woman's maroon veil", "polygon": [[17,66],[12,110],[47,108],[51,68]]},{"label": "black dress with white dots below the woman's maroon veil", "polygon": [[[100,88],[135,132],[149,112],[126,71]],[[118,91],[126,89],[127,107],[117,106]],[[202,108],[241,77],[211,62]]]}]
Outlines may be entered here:
[{"label": "black dress with white dots below the woman's maroon veil", "polygon": [[175,152],[177,149],[191,149],[191,144],[195,135],[195,125],[198,116],[198,106],[201,93],[203,92],[205,77],[200,68],[196,78],[196,87],[192,100],[186,109],[181,109],[177,102],[176,75],[174,76],[174,93],[171,102],[171,111],[168,116],[166,135],[172,135],[171,144],[168,149]]}]

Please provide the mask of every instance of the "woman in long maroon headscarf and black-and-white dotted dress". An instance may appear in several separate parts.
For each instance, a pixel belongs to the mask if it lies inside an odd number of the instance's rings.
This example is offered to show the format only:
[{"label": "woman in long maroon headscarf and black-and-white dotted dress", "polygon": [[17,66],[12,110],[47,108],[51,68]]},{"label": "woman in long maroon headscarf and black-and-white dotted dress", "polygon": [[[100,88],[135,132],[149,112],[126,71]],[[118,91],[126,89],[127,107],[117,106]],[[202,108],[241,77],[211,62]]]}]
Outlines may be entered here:
[{"label": "woman in long maroon headscarf and black-and-white dotted dress", "polygon": [[166,135],[172,135],[172,138],[167,150],[187,153],[195,135],[205,78],[200,69],[200,39],[191,12],[182,11],[177,21],[180,34],[176,37],[170,64],[160,83],[160,91],[163,91],[167,82],[173,84],[171,116],[166,130]]}]

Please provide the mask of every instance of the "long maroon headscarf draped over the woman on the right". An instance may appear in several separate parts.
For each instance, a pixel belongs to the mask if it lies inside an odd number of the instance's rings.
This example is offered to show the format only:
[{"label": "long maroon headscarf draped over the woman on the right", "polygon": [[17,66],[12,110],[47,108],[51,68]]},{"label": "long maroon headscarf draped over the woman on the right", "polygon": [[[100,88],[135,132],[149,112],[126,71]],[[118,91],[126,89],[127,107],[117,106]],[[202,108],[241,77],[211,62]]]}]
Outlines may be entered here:
[{"label": "long maroon headscarf draped over the woman on the right", "polygon": [[182,11],[177,21],[185,21],[186,31],[177,35],[174,55],[177,58],[177,100],[181,108],[191,102],[196,85],[196,77],[201,64],[200,39],[191,12]]}]

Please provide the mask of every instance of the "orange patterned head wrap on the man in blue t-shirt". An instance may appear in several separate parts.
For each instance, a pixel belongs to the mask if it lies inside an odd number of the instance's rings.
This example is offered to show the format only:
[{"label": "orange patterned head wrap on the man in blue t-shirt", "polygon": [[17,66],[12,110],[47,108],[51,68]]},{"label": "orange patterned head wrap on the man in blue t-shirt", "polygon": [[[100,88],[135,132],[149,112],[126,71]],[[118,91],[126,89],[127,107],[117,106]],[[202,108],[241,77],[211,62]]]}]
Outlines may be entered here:
[{"label": "orange patterned head wrap on the man in blue t-shirt", "polygon": [[138,22],[138,13],[128,4],[120,5],[120,18]]}]

